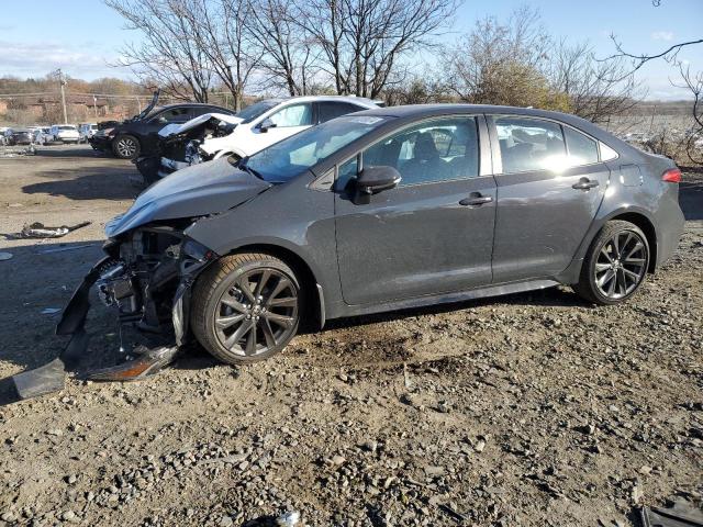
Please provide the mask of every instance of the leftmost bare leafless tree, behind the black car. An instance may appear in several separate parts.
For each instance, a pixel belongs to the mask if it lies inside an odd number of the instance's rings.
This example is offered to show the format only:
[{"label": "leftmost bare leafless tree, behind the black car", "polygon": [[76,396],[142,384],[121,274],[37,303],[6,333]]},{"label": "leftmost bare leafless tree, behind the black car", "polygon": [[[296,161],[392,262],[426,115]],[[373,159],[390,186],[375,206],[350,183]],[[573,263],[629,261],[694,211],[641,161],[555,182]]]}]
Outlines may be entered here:
[{"label": "leftmost bare leafless tree, behind the black car", "polygon": [[[196,0],[197,1],[197,0]],[[122,48],[122,66],[141,79],[156,81],[178,99],[207,102],[212,85],[212,63],[194,37],[192,20],[182,9],[193,0],[105,0],[127,21],[127,29],[142,33],[140,44]]]}]

